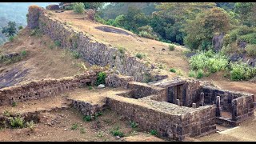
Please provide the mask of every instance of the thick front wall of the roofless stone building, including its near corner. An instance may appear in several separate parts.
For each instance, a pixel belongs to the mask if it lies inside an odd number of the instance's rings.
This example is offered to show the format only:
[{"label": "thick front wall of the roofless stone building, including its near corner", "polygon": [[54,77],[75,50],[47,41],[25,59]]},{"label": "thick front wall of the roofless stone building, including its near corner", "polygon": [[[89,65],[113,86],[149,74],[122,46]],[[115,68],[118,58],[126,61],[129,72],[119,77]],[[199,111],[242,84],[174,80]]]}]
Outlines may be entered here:
[{"label": "thick front wall of the roofless stone building, including its near corner", "polygon": [[157,130],[166,138],[182,141],[185,136],[196,137],[216,131],[214,105],[193,109],[152,100],[148,100],[150,105],[145,106],[142,103],[147,102],[136,101],[133,98],[106,97],[111,110],[138,122],[143,130]]}]

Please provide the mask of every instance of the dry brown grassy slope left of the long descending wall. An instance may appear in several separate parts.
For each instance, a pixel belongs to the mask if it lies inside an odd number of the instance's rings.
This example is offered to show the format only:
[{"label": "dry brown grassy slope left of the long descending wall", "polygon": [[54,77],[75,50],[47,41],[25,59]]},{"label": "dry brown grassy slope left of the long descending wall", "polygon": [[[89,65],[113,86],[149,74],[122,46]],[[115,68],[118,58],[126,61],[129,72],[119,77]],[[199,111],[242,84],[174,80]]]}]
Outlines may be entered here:
[{"label": "dry brown grassy slope left of the long descending wall", "polygon": [[[0,47],[0,54],[21,53],[26,57],[19,62],[0,62],[0,88],[17,85],[21,82],[42,78],[62,78],[82,73],[82,60],[75,59],[68,50],[54,45],[46,35],[30,36],[31,31],[23,29],[14,42]],[[85,63],[86,67],[90,65]]]}]

